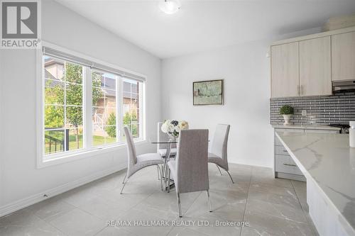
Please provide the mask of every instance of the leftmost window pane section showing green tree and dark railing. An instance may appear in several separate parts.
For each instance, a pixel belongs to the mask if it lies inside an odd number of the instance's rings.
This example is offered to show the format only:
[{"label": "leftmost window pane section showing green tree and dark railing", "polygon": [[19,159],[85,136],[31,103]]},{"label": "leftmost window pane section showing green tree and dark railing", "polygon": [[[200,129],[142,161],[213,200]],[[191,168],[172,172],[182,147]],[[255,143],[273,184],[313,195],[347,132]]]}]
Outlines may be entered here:
[{"label": "leftmost window pane section showing green tree and dark railing", "polygon": [[45,154],[83,147],[82,66],[45,60]]}]

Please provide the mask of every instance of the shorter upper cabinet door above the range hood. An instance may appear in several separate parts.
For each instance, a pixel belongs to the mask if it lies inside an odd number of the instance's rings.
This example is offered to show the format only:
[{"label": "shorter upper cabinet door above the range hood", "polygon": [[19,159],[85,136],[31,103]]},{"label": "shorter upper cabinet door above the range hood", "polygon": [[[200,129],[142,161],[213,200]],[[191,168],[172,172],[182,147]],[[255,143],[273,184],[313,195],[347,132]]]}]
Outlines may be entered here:
[{"label": "shorter upper cabinet door above the range hood", "polygon": [[355,32],[332,35],[332,81],[355,79]]}]

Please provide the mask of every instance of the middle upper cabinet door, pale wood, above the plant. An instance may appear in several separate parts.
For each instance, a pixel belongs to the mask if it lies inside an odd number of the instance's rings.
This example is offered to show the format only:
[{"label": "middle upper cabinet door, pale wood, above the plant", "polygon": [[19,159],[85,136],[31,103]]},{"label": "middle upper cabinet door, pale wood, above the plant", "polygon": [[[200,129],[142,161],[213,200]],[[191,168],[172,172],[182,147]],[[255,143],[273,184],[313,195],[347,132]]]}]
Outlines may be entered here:
[{"label": "middle upper cabinet door, pale wood, above the plant", "polygon": [[332,94],[330,36],[300,42],[300,96]]}]

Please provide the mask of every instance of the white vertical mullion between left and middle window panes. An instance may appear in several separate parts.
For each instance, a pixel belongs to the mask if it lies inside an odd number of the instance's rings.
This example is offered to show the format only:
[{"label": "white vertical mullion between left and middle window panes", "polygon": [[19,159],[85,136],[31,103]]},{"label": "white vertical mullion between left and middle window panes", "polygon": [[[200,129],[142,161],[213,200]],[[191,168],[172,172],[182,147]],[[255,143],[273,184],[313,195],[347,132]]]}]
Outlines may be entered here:
[{"label": "white vertical mullion between left and middle window panes", "polygon": [[92,148],[92,69],[84,67],[84,147]]}]

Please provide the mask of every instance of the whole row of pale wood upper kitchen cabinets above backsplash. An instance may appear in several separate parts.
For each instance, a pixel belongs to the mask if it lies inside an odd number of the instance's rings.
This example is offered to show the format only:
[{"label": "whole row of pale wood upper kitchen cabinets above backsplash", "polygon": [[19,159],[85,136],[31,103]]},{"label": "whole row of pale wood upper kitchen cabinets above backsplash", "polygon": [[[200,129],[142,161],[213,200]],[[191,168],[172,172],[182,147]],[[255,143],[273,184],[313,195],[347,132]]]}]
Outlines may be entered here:
[{"label": "whole row of pale wood upper kitchen cabinets above backsplash", "polygon": [[271,45],[271,98],[332,95],[332,82],[355,79],[355,27]]}]

